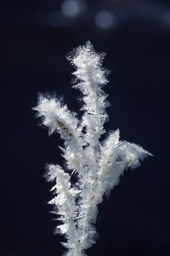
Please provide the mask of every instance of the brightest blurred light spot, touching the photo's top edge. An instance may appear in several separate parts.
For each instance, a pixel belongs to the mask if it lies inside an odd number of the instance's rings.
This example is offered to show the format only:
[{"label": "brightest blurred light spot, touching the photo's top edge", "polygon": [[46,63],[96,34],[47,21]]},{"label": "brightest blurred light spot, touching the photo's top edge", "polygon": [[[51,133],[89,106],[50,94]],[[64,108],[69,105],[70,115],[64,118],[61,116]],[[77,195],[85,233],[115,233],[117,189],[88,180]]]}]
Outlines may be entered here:
[{"label": "brightest blurred light spot, touching the photo's top edge", "polygon": [[75,18],[81,15],[86,9],[84,0],[65,0],[61,4],[61,11],[65,17]]}]

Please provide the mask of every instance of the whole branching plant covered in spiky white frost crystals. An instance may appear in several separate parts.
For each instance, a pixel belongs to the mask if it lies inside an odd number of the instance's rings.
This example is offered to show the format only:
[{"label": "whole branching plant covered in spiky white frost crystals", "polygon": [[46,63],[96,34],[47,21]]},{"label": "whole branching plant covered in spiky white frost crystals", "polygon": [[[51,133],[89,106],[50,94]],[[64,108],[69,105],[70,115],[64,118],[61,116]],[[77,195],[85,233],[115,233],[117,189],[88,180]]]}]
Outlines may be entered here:
[{"label": "whole branching plant covered in spiky white frost crystals", "polygon": [[[62,221],[54,233],[65,234],[67,243],[62,245],[68,250],[65,256],[85,256],[85,250],[96,243],[98,233],[94,224],[98,213],[97,204],[102,202],[105,193],[109,198],[111,189],[119,183],[124,170],[140,166],[139,160],[152,156],[141,146],[119,140],[119,129],[109,130],[105,140],[99,138],[106,131],[108,122],[105,108],[111,106],[106,100],[108,94],[102,90],[108,83],[110,73],[103,68],[105,53],[96,53],[88,41],[71,51],[66,58],[76,68],[73,73],[74,88],[83,96],[79,101],[85,111],[82,119],[77,113],[68,110],[63,98],[55,94],[39,93],[36,117],[42,117],[42,124],[48,127],[48,135],[58,132],[65,140],[62,156],[65,158],[65,172],[58,164],[48,164],[44,177],[47,181],[56,180],[51,189],[57,194],[48,204]],[[77,173],[77,183],[71,184],[71,175]]]}]

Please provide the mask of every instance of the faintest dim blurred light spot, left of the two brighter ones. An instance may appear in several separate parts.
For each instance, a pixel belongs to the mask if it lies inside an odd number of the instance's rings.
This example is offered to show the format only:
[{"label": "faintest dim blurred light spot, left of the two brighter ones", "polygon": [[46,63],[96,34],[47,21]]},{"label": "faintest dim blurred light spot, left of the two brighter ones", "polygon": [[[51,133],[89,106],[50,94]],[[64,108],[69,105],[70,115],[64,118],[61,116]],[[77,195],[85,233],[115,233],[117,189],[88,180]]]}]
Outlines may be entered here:
[{"label": "faintest dim blurred light spot, left of the two brighter ones", "polygon": [[51,26],[64,26],[67,23],[61,12],[57,10],[48,12],[47,22]]}]

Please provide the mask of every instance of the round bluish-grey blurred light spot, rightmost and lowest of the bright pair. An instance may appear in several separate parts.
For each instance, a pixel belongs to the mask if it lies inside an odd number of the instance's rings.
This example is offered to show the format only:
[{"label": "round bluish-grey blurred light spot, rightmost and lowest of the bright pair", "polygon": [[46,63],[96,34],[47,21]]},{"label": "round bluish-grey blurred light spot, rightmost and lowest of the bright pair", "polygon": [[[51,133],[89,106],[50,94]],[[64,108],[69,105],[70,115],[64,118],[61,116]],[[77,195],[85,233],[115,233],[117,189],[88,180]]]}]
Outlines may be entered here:
[{"label": "round bluish-grey blurred light spot, rightmost and lowest of the bright pair", "polygon": [[108,11],[100,11],[96,14],[95,23],[100,29],[109,29],[114,23],[113,14]]}]

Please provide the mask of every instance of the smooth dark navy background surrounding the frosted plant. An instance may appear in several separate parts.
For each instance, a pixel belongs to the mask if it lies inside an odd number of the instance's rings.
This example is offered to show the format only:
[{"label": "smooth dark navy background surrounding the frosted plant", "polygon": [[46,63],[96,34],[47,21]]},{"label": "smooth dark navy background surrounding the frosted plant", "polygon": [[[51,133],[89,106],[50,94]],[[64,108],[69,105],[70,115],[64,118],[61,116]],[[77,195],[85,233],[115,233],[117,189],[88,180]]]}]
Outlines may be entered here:
[{"label": "smooth dark navy background surrounding the frosted plant", "polygon": [[[38,92],[56,91],[80,119],[80,93],[71,88],[74,68],[65,55],[88,40],[106,53],[103,66],[111,70],[104,87],[112,105],[106,131],[119,128],[121,140],[142,145],[154,157],[125,172],[108,201],[103,197],[99,239],[87,254],[168,256],[170,4],[89,0],[82,15],[69,19],[62,17],[61,3],[6,0],[0,10],[0,256],[62,255],[64,239],[53,235],[57,222],[48,212],[52,184],[42,175],[45,163],[62,165],[57,146],[63,141],[37,126],[31,108]],[[46,17],[56,10],[63,20],[58,16],[52,26]],[[95,25],[100,10],[115,16],[110,29]]]}]

